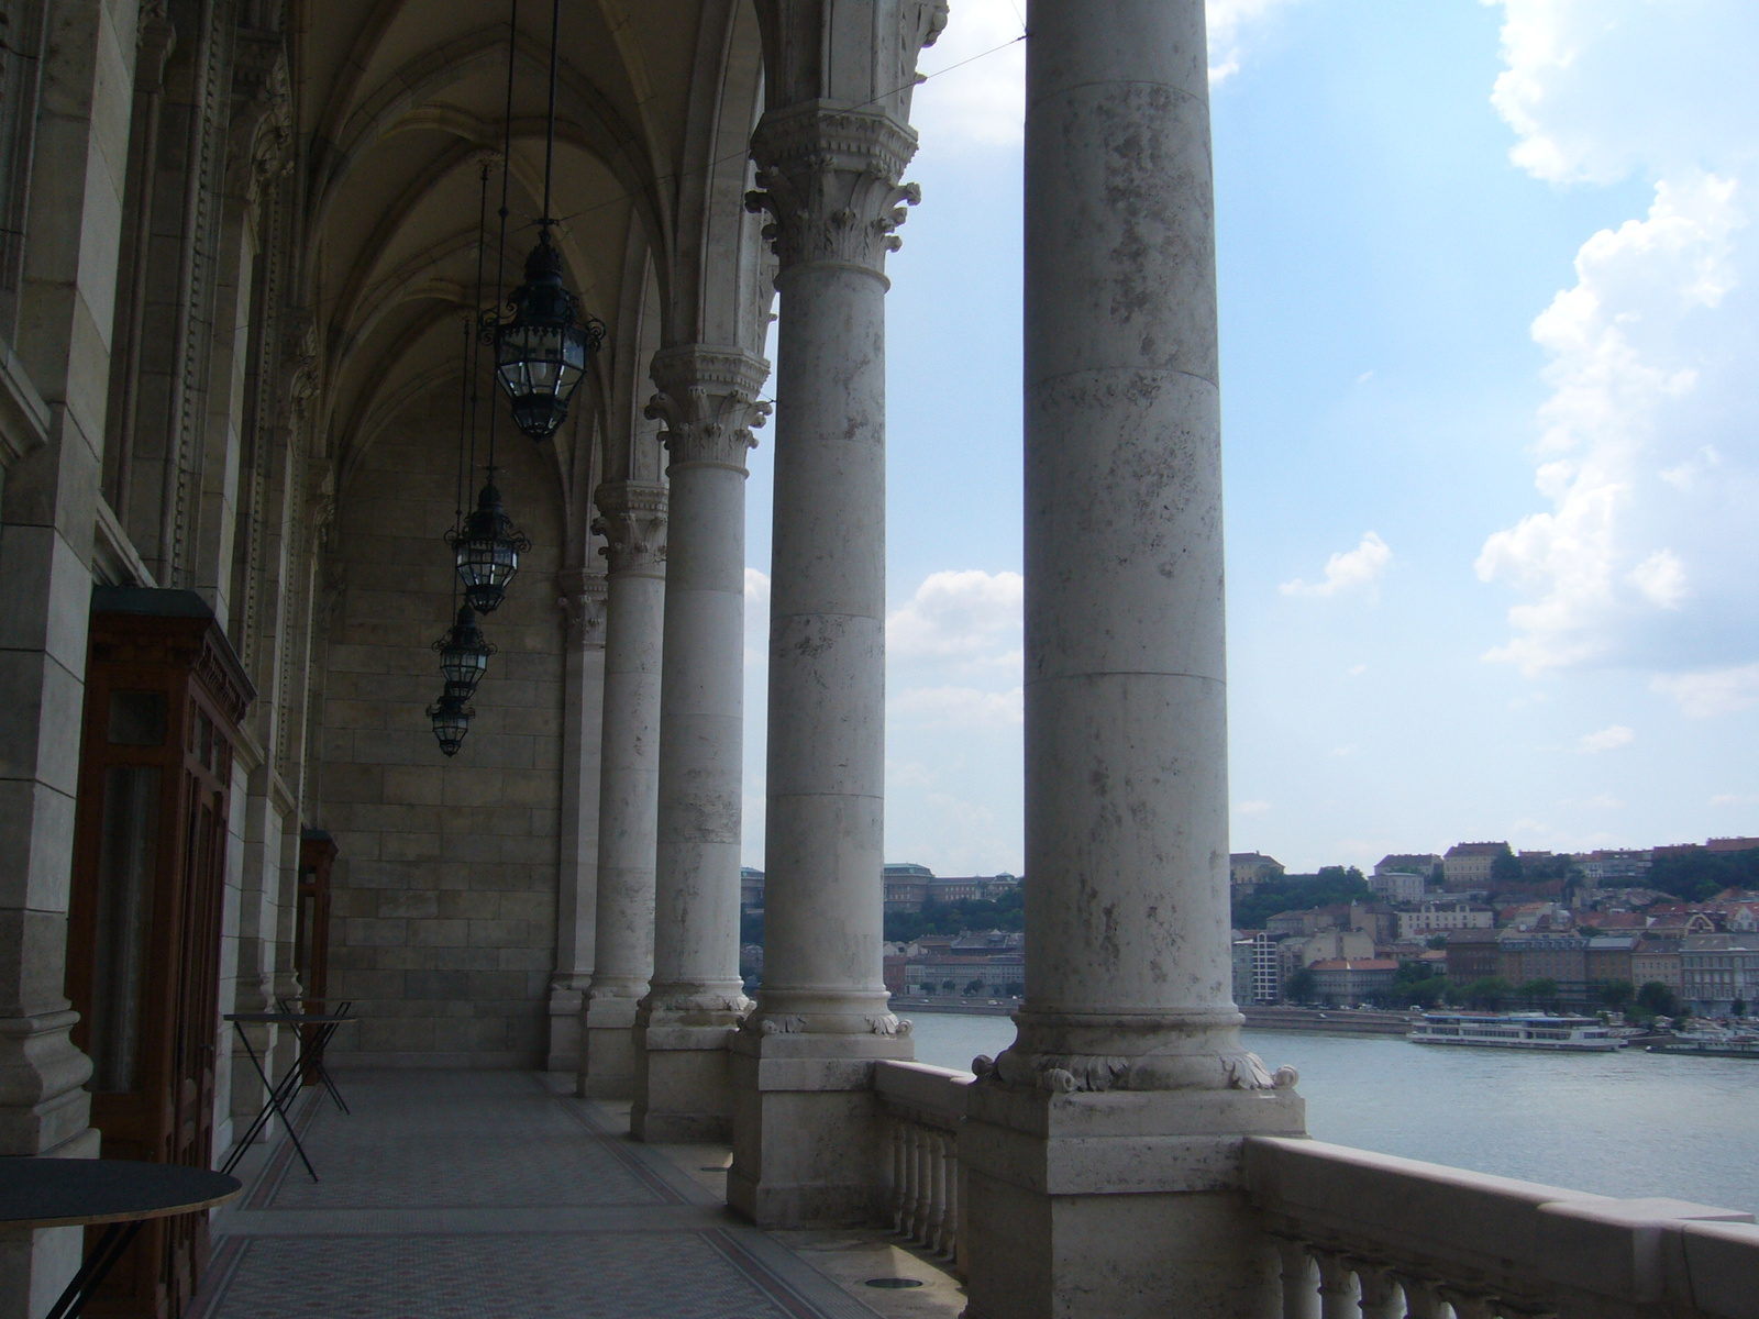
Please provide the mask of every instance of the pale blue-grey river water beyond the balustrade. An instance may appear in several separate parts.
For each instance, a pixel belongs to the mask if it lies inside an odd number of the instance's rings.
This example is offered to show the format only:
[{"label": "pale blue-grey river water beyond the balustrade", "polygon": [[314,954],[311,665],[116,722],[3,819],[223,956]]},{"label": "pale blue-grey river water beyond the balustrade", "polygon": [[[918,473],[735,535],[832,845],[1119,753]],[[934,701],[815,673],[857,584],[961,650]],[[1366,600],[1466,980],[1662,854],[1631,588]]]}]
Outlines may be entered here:
[{"label": "pale blue-grey river water beyond the balustrade", "polygon": [[[969,1068],[1013,1039],[1006,1017],[911,1020],[916,1060],[938,1068]],[[1272,1071],[1284,1062],[1300,1071],[1316,1140],[1759,1213],[1759,1060],[1437,1048],[1296,1031],[1247,1031],[1245,1041]]]}]

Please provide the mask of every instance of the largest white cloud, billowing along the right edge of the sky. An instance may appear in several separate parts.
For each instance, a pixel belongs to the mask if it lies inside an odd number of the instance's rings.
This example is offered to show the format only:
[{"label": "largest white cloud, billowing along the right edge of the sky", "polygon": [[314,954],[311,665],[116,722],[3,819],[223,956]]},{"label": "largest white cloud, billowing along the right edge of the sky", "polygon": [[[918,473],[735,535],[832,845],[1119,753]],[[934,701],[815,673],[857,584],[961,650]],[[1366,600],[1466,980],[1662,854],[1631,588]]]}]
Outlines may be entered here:
[{"label": "largest white cloud, billowing along the right edge of the sky", "polygon": [[[1550,357],[1536,485],[1478,575],[1516,596],[1486,658],[1529,674],[1690,675],[1759,652],[1759,5],[1502,0],[1492,102],[1513,160],[1558,185],[1653,179],[1643,218],[1590,236],[1532,325]],[[1708,473],[1715,471],[1715,478]]]}]

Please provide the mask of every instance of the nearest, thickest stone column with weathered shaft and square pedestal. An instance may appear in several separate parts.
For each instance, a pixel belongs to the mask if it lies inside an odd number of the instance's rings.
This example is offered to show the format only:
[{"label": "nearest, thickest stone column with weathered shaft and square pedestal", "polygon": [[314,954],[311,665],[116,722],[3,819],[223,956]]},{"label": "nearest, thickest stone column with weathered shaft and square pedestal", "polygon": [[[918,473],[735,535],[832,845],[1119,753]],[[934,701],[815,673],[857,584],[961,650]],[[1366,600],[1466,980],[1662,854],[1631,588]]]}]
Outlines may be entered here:
[{"label": "nearest, thickest stone column with weathered shaft and square pedestal", "polygon": [[960,1134],[973,1319],[1261,1314],[1240,1043],[1203,0],[1034,0],[1025,1008]]}]

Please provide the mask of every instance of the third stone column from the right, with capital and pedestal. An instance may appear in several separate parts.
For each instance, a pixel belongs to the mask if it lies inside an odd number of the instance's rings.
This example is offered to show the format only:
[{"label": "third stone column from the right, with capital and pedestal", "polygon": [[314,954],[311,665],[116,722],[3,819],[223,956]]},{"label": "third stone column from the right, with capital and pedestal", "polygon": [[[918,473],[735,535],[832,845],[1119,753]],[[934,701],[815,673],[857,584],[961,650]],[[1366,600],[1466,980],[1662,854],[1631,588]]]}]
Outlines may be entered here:
[{"label": "third stone column from the right, with capital and pedestal", "polygon": [[647,417],[665,422],[670,540],[660,696],[653,988],[635,1018],[630,1129],[649,1141],[732,1133],[728,1034],[739,976],[744,749],[746,452],[769,362],[684,345],[654,355]]}]

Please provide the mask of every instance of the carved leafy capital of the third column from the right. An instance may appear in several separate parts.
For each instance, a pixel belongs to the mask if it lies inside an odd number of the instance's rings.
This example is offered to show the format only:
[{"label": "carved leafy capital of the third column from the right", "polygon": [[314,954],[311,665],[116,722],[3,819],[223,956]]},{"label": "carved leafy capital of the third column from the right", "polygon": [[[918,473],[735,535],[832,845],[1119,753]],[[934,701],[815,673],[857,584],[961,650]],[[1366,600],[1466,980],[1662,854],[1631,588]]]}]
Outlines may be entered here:
[{"label": "carved leafy capital of the third column from the right", "polygon": [[758,397],[769,369],[741,348],[684,343],[656,352],[649,375],[660,392],[644,415],[665,422],[660,440],[672,466],[704,463],[746,475],[746,450],[758,443],[751,431],[770,413]]}]

